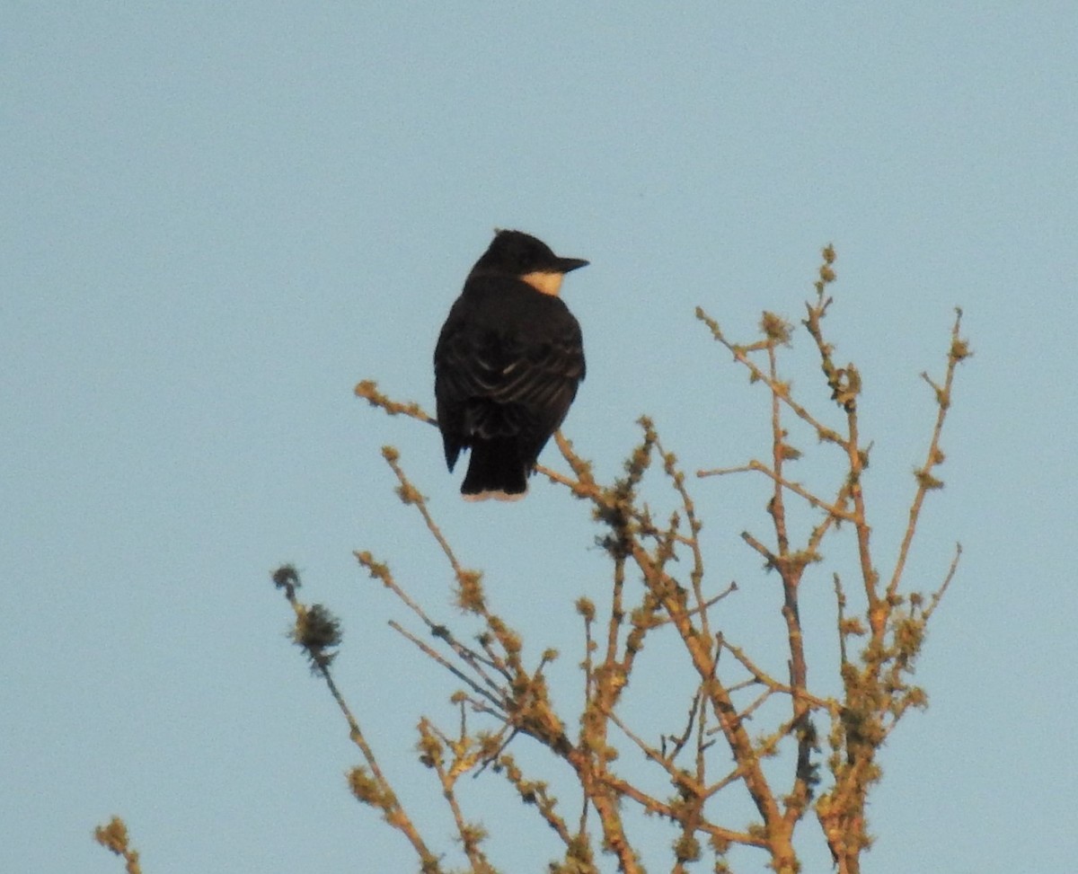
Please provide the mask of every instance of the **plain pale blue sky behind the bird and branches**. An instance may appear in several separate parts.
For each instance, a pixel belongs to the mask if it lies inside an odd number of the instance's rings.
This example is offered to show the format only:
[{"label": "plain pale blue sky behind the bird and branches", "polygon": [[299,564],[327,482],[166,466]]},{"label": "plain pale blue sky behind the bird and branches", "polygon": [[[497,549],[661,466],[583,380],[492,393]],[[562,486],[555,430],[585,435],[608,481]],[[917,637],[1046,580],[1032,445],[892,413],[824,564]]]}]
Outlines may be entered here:
[{"label": "plain pale blue sky behind the bird and branches", "polygon": [[[766,452],[765,397],[693,309],[744,341],[763,309],[797,320],[833,242],[883,567],[935,415],[918,374],[965,309],[911,584],[965,552],[865,864],[1073,872],[1076,45],[1064,2],[0,4],[0,870],[121,871],[92,841],[112,814],[148,874],[414,870],[346,791],[358,751],[287,640],[282,561],[341,615],[340,683],[452,850],[412,746],[420,713],[453,725],[455,684],[353,550],[469,626],[379,447],[529,652],[562,649],[566,689],[572,602],[609,580],[583,504],[538,478],[462,504],[432,429],[353,397],[374,378],[432,406],[438,330],[497,226],[592,262],[564,290],[589,362],[565,430],[606,478],[641,413],[690,471]],[[803,331],[789,356],[827,411]],[[690,485],[710,584],[743,591],[723,627],[765,651],[775,580],[738,538],[766,535],[765,484]],[[805,585],[826,686],[830,567]],[[495,862],[544,870],[499,778],[467,791]]]}]

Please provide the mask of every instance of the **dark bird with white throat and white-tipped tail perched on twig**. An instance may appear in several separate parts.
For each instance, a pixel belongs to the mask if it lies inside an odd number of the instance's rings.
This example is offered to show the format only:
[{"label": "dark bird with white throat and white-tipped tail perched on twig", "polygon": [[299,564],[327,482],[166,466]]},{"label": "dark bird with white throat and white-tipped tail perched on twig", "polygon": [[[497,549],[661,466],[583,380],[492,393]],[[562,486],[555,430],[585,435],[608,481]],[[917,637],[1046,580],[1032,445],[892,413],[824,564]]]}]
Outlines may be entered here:
[{"label": "dark bird with white throat and white-tipped tail perched on twig", "polygon": [[445,463],[470,450],[465,500],[527,493],[547,441],[584,378],[580,323],[558,292],[581,258],[522,231],[498,231],[468,274],[434,347],[434,399]]}]

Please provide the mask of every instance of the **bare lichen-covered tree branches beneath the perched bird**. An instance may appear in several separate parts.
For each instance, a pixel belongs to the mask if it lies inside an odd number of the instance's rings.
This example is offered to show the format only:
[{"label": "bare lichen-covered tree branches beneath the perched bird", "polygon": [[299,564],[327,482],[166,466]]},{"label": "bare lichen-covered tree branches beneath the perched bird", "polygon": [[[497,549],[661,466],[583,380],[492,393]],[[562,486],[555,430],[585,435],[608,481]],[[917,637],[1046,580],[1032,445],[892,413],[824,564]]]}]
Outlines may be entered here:
[{"label": "bare lichen-covered tree branches beneath the perched bird", "polygon": [[[715,872],[728,872],[727,854],[735,846],[756,848],[775,872],[793,874],[801,870],[794,834],[811,821],[810,815],[818,822],[838,871],[857,874],[860,870],[861,854],[870,845],[867,802],[881,777],[879,752],[902,717],[927,703],[925,692],[912,682],[914,663],[962,552],[956,546],[935,591],[922,593],[903,585],[922,507],[930,491],[942,487],[937,475],[944,459],[940,436],[955,372],[971,352],[959,332],[958,311],[942,378],[936,381],[923,374],[934,393],[936,419],[924,460],[914,471],[897,558],[893,566],[881,567],[874,557],[862,490],[871,444],[866,443],[858,418],[860,373],[852,363],[837,363],[834,346],[824,330],[832,305],[829,287],[835,278],[834,259],[830,246],[824,249],[816,294],[805,304],[802,324],[815,345],[838,411],[835,426],[826,424],[834,417],[833,410],[811,410],[796,396],[779,366],[793,330],[789,323],[764,313],[760,338],[737,344],[707,314],[696,311],[734,363],[770,396],[766,454],[736,467],[696,471],[695,476],[747,473],[766,481],[771,530],[766,535],[744,531],[742,538],[759,554],[779,588],[775,622],[783,629],[784,653],[749,652],[738,641],[736,629],[719,626],[717,605],[737,586],[716,585],[707,574],[691,477],[649,419],[639,420],[640,442],[624,463],[624,475],[612,483],[598,482],[590,463],[558,434],[557,445],[569,472],[538,470],[590,504],[602,526],[598,542],[611,568],[602,606],[583,597],[576,602],[584,699],[579,712],[558,712],[548,680],[549,665],[557,653],[548,649],[538,663],[527,663],[522,634],[488,607],[482,574],[458,559],[427,499],[405,473],[398,452],[383,449],[401,500],[416,509],[445,556],[457,606],[482,626],[475,636],[436,621],[387,564],[369,552],[356,553],[365,571],[414,618],[411,627],[396,621],[390,625],[448,671],[458,685],[452,698],[459,710],[456,724],[451,730],[423,718],[418,750],[419,761],[433,773],[438,792],[452,814],[467,871],[489,874],[497,870],[488,857],[485,830],[466,814],[468,800],[458,791],[462,776],[481,773],[508,780],[522,804],[534,809],[538,823],[557,836],[563,849],[561,858],[549,863],[552,874],[599,872],[599,850],[616,860],[620,872],[645,871],[640,845],[634,838],[634,817],[639,811],[669,823],[668,870],[675,874],[704,863]],[[433,424],[418,404],[391,400],[372,381],[361,383],[356,393],[391,415]],[[808,487],[791,473],[802,458],[802,449],[789,436],[791,422],[800,422],[815,436],[815,453],[830,477],[826,487]],[[648,488],[660,487],[668,489],[676,504],[663,517],[650,509],[645,495]],[[793,513],[807,514],[811,521],[801,536],[794,532],[801,526],[790,524]],[[833,670],[838,664],[840,676],[832,678],[831,685],[841,693],[825,695],[814,692],[808,679],[801,584],[806,569],[825,561],[825,546],[830,549],[843,538],[852,541],[857,570],[854,579],[842,579],[837,571],[830,574],[839,651],[832,662],[813,669],[814,674]],[[404,836],[420,871],[446,872],[444,852],[420,834],[334,682],[332,661],[341,643],[336,619],[322,606],[300,600],[300,579],[291,566],[275,571],[274,581],[295,612],[295,642],[326,682],[360,750],[362,764],[348,778],[353,794],[381,811]],[[677,641],[691,692],[688,700],[674,699],[671,691],[669,699],[657,702],[664,718],[678,717],[677,724],[653,730],[631,724],[624,703],[646,646],[660,635]],[[782,676],[764,667],[776,661],[785,662]],[[657,693],[649,690],[648,694]],[[564,763],[573,778],[573,802],[579,803],[559,802],[547,781],[525,772],[513,754],[522,744],[539,745],[554,761]],[[624,753],[632,750],[645,766],[626,764]],[[671,792],[661,796],[654,786],[671,787]],[[723,820],[717,799],[732,794],[747,800],[747,809],[752,811],[747,824]],[[120,851],[112,844],[107,846]],[[127,846],[126,833],[123,846]]]}]

